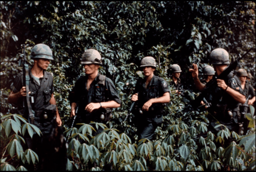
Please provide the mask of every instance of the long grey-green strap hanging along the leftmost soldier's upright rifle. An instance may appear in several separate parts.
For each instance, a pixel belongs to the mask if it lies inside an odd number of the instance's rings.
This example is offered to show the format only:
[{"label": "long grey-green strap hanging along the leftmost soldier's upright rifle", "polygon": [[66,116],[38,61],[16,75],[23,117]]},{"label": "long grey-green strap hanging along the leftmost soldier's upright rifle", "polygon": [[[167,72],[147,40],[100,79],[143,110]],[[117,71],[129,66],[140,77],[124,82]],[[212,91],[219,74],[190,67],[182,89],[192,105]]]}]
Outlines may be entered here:
[{"label": "long grey-green strap hanging along the leftmost soldier's upright rifle", "polygon": [[30,120],[31,124],[34,124],[34,113],[32,110],[32,106],[30,104],[30,100],[29,100],[29,74],[28,74],[28,64],[24,64],[25,70],[26,70],[26,100],[27,100],[27,106],[28,106],[28,120]]}]

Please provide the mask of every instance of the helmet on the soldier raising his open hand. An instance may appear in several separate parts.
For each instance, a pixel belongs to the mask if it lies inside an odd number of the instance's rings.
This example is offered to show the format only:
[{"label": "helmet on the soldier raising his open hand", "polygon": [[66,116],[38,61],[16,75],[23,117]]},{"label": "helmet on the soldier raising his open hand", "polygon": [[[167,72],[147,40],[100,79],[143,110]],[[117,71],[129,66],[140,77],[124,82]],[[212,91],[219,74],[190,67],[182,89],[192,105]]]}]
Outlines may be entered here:
[{"label": "helmet on the soldier raising his open hand", "polygon": [[228,52],[223,48],[216,48],[210,54],[211,64],[230,64]]}]

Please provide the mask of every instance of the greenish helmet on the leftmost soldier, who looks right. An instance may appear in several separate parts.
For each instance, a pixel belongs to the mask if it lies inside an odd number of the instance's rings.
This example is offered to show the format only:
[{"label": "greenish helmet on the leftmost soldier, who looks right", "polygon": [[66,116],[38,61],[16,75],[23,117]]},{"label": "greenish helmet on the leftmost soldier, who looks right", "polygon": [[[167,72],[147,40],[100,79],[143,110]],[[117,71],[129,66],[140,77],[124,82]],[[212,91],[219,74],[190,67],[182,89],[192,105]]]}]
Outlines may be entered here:
[{"label": "greenish helmet on the leftmost soldier, who looks right", "polygon": [[31,59],[49,59],[53,60],[52,58],[52,50],[48,45],[45,44],[37,44],[35,45],[30,54]]}]

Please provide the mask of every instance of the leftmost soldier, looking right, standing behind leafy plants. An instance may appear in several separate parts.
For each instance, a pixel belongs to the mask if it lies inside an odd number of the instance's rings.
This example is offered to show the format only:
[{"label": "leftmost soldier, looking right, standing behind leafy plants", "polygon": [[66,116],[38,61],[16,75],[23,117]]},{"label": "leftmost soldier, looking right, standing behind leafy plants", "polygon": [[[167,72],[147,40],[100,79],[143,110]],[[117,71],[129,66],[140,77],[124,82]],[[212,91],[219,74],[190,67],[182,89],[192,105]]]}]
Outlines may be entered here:
[{"label": "leftmost soldier, looking right, standing behind leafy plants", "polygon": [[[44,140],[50,137],[50,132],[56,123],[62,125],[56,101],[53,96],[53,76],[46,72],[50,60],[53,60],[52,50],[45,44],[37,44],[31,50],[31,59],[34,60],[33,67],[29,69],[29,97],[33,116],[28,116],[28,108],[23,107],[23,99],[26,97],[26,87],[24,87],[23,72],[19,73],[14,79],[14,88],[8,97],[8,102],[17,105],[21,115],[36,125],[42,132],[43,137],[37,134],[33,136],[33,140],[25,135],[28,148],[38,153],[39,160],[43,156],[42,145]],[[41,163],[41,162],[40,162]]]}]

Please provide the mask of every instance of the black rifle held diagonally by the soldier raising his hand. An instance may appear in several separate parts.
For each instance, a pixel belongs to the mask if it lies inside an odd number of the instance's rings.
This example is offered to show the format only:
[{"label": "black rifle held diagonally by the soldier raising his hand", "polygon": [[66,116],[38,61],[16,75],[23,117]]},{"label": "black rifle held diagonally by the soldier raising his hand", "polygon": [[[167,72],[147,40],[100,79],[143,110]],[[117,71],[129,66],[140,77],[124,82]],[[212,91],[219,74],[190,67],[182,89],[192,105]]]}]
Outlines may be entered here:
[{"label": "black rifle held diagonally by the soldier raising his hand", "polygon": [[238,61],[243,59],[251,51],[251,49],[252,48],[250,48],[244,55],[242,55],[242,57],[239,57],[234,62],[232,62],[228,66],[228,68],[226,68],[222,73],[220,73],[220,75],[218,75],[218,76],[214,75],[213,78],[209,82],[206,83],[206,87],[201,92],[201,94],[191,102],[191,105],[193,107],[196,107],[202,101],[202,99],[205,97],[206,93],[211,92],[212,90],[214,90],[217,87],[217,79],[224,80],[231,71],[233,71],[237,68]]}]

